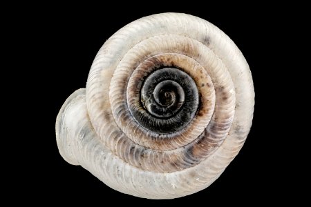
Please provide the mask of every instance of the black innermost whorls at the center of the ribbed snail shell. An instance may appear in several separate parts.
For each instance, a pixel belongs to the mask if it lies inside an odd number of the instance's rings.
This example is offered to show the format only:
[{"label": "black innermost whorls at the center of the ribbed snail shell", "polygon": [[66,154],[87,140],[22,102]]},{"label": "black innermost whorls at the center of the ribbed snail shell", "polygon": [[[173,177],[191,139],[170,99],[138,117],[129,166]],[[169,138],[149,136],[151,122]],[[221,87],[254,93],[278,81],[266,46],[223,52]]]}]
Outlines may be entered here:
[{"label": "black innermost whorls at the center of the ribbed snail shell", "polygon": [[161,68],[142,83],[140,108],[130,108],[138,123],[153,132],[185,128],[196,115],[199,96],[194,79],[177,68]]}]

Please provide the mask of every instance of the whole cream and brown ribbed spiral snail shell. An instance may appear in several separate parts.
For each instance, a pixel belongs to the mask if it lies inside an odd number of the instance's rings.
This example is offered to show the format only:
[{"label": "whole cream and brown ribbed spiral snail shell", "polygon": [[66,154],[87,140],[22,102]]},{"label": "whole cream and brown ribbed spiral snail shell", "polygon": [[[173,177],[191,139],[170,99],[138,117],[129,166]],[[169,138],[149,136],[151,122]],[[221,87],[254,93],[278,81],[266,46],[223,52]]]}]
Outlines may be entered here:
[{"label": "whole cream and brown ribbed spiral snail shell", "polygon": [[252,125],[254,87],[211,23],[164,13],[129,23],[97,53],[56,121],[59,152],[122,193],[171,199],[207,188]]}]

